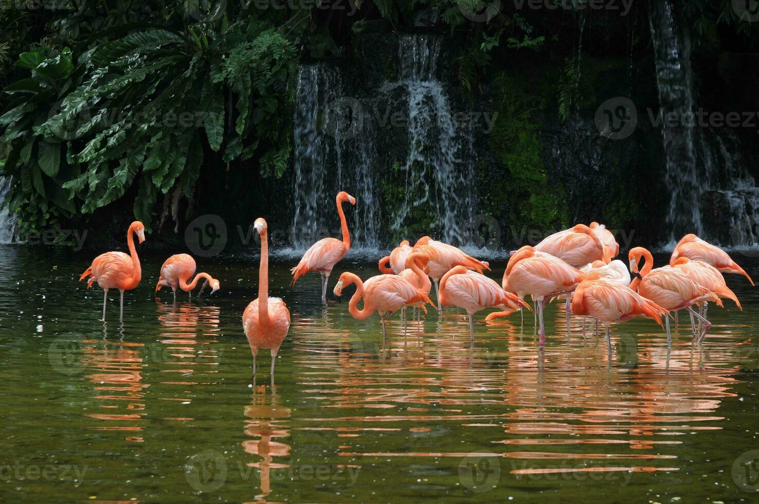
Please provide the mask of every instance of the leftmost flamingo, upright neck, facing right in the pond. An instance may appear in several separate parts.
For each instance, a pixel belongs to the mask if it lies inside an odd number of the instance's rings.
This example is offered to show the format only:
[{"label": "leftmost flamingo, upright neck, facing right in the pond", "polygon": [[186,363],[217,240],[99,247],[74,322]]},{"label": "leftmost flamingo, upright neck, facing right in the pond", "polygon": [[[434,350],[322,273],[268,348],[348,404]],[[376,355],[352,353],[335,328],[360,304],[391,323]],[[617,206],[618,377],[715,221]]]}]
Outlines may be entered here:
[{"label": "leftmost flamingo, upright neck, facing right in the pond", "polygon": [[121,292],[121,312],[119,320],[124,319],[124,291],[140,285],[142,279],[142,268],[140,267],[140,258],[137,257],[137,250],[134,248],[134,238],[132,235],[137,233],[137,239],[142,243],[145,241],[145,225],[140,221],[134,221],[129,225],[127,230],[127,244],[129,255],[123,252],[106,252],[100,254],[93,260],[89,268],[85,269],[82,276],[79,277],[81,282],[87,279],[87,288],[90,288],[94,282],[103,290],[102,298],[102,320],[106,320],[106,301],[108,301],[109,288],[118,288]]}]

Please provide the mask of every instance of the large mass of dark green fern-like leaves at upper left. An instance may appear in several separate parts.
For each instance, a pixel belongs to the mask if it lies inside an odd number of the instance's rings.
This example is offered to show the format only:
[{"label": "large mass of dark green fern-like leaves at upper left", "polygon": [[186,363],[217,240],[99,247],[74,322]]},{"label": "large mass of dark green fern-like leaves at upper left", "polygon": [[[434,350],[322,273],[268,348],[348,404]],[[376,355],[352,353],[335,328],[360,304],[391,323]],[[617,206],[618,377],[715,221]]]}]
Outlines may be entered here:
[{"label": "large mass of dark green fern-like leaves at upper left", "polygon": [[14,176],[11,202],[25,225],[92,213],[136,187],[134,216],[150,228],[158,198],[175,187],[193,197],[201,166],[214,159],[257,156],[262,175],[282,176],[286,90],[298,63],[282,27],[225,15],[184,31],[116,31],[76,58],[38,48],[16,62],[30,77],[5,89],[12,100],[0,128],[11,146],[3,172]]}]

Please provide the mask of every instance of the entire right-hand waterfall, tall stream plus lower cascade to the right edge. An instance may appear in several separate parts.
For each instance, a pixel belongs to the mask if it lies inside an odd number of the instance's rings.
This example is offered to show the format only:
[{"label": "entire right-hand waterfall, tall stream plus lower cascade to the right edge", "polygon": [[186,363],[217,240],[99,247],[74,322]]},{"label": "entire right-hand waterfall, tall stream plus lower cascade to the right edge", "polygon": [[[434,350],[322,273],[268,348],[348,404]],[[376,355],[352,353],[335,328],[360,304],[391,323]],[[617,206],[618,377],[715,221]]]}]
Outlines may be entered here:
[{"label": "entire right-hand waterfall, tall stream plus lower cascade to the right edge", "polygon": [[[676,124],[662,124],[666,185],[672,199],[670,241],[694,232],[732,247],[759,244],[759,188],[735,159],[739,140],[728,129],[700,127],[694,115],[691,42],[678,30],[670,0],[650,0],[660,114],[674,112]],[[704,219],[704,217],[706,217]],[[727,225],[726,225],[727,224]]]}]

